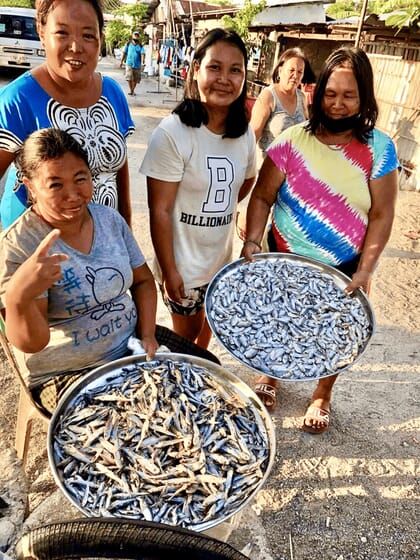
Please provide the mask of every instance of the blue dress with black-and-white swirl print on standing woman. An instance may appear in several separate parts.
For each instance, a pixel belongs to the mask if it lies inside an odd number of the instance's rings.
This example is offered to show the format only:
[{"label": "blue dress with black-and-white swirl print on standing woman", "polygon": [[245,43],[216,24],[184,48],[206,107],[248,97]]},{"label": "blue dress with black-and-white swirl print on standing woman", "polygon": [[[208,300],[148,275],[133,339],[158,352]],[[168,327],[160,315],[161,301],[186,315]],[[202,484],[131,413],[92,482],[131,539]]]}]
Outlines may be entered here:
[{"label": "blue dress with black-and-white swirl print on standing woman", "polygon": [[[0,150],[15,153],[41,128],[59,128],[86,150],[92,172],[93,200],[118,209],[117,172],[127,157],[126,137],[134,131],[127,100],[119,84],[102,76],[99,100],[83,108],[62,105],[25,72],[0,91]],[[26,187],[12,164],[0,204],[3,229],[27,207]]]}]

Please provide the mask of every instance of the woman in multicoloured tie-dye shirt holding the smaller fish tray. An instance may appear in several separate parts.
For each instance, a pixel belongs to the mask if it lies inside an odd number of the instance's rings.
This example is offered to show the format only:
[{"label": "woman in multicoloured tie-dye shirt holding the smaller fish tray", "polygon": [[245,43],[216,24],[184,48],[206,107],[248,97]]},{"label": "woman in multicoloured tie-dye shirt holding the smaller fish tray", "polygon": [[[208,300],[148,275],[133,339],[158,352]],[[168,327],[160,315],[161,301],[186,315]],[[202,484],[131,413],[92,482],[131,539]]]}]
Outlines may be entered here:
[{"label": "woman in multicoloured tie-dye shirt holding the smaller fish tray", "polygon": [[[325,61],[312,116],[281,133],[267,150],[247,211],[242,255],[292,252],[332,265],[351,278],[350,292],[369,292],[371,277],[389,239],[397,195],[398,161],[392,140],[375,129],[378,108],[367,55],[340,48]],[[320,379],[302,429],[321,433],[330,420],[337,376]],[[256,392],[269,409],[277,383],[262,376]]]}]

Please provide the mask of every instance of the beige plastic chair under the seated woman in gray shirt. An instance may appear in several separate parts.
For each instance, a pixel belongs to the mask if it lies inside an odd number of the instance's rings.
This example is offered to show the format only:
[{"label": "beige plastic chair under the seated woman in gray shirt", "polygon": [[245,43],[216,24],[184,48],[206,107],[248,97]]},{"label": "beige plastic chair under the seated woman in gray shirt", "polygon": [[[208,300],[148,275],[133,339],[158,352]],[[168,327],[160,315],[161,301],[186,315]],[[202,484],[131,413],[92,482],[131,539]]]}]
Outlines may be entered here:
[{"label": "beige plastic chair under the seated woman in gray shirt", "polygon": [[28,457],[29,441],[32,431],[32,423],[38,418],[44,421],[45,426],[48,426],[49,417],[44,414],[35,401],[31,397],[31,393],[27,388],[20,367],[16,361],[16,357],[13,354],[12,347],[6,338],[5,334],[5,324],[3,318],[0,316],[0,344],[3,348],[3,352],[6,355],[7,361],[12,368],[13,372],[16,374],[19,380],[20,392],[19,392],[19,404],[18,413],[16,421],[16,436],[15,436],[15,449],[17,456],[22,460],[23,467],[26,465],[26,460]]}]

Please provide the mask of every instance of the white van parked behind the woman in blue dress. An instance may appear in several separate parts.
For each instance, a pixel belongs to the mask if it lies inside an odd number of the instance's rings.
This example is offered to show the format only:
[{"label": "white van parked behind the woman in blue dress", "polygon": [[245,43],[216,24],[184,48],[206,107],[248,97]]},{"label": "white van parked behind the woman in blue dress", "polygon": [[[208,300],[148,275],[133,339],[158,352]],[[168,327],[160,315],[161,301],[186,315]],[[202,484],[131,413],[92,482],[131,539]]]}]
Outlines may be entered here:
[{"label": "white van parked behind the woman in blue dress", "polygon": [[45,61],[36,10],[0,8],[0,67],[30,69]]}]

